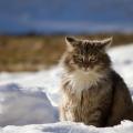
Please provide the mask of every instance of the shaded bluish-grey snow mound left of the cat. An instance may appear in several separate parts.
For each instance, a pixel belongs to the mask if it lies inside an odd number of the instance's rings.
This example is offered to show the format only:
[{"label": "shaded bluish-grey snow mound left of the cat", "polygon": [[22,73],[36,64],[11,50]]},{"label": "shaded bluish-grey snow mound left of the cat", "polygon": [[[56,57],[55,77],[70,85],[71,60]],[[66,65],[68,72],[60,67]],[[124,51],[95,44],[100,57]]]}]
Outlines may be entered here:
[{"label": "shaded bluish-grey snow mound left of the cat", "polygon": [[17,84],[0,86],[0,125],[23,125],[57,121],[57,109],[39,89]]}]

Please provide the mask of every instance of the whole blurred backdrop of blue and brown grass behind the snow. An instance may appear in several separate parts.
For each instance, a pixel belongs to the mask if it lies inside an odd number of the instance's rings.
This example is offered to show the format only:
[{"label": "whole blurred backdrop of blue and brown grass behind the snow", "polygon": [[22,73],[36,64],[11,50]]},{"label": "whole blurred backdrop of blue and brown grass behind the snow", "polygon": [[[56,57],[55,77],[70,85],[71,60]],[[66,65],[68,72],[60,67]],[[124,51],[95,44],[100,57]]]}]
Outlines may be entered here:
[{"label": "whole blurred backdrop of blue and brown grass behind the snow", "polygon": [[58,64],[65,35],[133,42],[133,0],[0,0],[0,71]]}]

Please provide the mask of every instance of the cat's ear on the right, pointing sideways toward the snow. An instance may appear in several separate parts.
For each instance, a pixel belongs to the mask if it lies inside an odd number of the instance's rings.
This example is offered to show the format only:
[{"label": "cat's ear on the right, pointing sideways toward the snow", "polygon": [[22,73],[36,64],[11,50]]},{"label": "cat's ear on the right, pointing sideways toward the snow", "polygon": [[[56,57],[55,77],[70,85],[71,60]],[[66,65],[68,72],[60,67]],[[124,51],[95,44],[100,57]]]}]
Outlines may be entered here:
[{"label": "cat's ear on the right, pointing sideways toward the snow", "polygon": [[108,48],[110,48],[110,45],[112,44],[112,40],[113,38],[108,38],[101,41],[100,48],[103,50],[106,50]]}]

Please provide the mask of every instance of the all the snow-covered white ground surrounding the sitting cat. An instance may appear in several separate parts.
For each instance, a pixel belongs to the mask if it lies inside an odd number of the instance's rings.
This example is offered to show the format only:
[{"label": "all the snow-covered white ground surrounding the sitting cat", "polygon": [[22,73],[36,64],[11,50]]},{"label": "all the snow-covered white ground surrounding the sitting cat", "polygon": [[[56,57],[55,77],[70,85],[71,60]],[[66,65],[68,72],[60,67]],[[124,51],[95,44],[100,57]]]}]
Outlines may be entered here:
[{"label": "all the snow-covered white ground surrounding the sitting cat", "polygon": [[[133,94],[133,44],[109,51],[113,68]],[[35,73],[0,74],[0,133],[133,133],[133,122],[98,129],[82,123],[59,122],[61,69]]]}]

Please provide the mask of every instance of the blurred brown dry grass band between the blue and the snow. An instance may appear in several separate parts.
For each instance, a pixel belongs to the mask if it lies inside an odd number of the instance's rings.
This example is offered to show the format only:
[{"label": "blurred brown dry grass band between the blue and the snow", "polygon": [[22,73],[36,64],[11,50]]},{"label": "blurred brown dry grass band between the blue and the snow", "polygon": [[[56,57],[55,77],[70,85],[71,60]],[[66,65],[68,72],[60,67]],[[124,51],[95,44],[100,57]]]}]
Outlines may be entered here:
[{"label": "blurred brown dry grass band between the blue and the snow", "polygon": [[[79,35],[102,39],[112,34]],[[133,42],[133,34],[113,34],[113,45]],[[37,71],[57,64],[65,49],[64,35],[1,35],[0,71]]]}]

